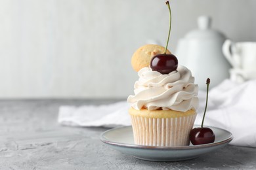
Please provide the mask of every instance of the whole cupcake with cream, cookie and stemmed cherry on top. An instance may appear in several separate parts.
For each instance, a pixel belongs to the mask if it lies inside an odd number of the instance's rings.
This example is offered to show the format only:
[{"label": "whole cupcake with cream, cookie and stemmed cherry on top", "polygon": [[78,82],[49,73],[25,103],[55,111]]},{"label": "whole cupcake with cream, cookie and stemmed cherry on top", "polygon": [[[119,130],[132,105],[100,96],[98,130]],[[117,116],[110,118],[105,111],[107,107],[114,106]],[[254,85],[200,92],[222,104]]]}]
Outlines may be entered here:
[{"label": "whole cupcake with cream, cookie and stemmed cherry on top", "polygon": [[[167,1],[169,13],[171,8]],[[129,95],[129,114],[135,144],[149,146],[185,146],[196,119],[198,85],[189,69],[167,50],[167,44],[140,47],[131,59],[139,80],[135,95]]]}]

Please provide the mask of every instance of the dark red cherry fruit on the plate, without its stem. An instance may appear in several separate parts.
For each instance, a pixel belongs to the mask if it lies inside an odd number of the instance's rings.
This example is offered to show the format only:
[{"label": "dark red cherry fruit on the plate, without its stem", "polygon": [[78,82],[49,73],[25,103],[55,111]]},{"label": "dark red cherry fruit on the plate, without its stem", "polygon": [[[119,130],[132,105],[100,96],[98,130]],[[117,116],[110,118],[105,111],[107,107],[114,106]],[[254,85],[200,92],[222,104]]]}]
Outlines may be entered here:
[{"label": "dark red cherry fruit on the plate, without its stem", "polygon": [[192,144],[207,144],[215,141],[213,130],[208,127],[196,127],[190,131],[190,141]]}]

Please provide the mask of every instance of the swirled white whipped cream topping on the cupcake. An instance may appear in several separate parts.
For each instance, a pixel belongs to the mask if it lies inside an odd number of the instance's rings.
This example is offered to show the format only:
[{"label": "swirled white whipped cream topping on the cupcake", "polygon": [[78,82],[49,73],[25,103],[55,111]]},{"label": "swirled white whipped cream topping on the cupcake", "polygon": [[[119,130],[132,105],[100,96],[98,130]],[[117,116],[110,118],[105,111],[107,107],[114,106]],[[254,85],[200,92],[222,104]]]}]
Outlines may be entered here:
[{"label": "swirled white whipped cream topping on the cupcake", "polygon": [[179,65],[177,71],[162,75],[144,67],[138,72],[135,82],[135,95],[129,95],[127,101],[131,107],[140,110],[187,110],[198,109],[198,85],[190,70]]}]

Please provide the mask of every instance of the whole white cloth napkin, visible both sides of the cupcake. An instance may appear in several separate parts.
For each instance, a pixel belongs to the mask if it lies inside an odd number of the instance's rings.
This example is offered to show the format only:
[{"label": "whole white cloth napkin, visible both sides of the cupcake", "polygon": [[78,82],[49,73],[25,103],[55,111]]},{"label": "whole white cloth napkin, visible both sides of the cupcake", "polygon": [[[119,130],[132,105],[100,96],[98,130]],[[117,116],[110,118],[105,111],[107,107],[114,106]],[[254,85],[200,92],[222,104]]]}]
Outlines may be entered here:
[{"label": "whole white cloth napkin, visible both sides of the cupcake", "polygon": [[[200,91],[198,97],[200,107],[195,124],[202,122],[206,93]],[[230,131],[234,137],[230,144],[256,147],[255,97],[256,80],[242,84],[224,80],[209,92],[204,125]],[[127,101],[100,106],[62,106],[59,109],[58,122],[66,126],[129,126],[129,107]]]}]

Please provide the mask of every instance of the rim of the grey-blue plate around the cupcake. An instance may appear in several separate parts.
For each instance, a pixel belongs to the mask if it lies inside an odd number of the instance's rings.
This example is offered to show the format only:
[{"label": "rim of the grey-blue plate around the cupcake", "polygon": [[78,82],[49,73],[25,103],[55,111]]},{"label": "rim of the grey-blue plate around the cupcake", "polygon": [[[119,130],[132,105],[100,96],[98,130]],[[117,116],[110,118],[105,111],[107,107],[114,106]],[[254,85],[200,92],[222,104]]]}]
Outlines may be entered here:
[{"label": "rim of the grey-blue plate around the cupcake", "polygon": [[[213,126],[203,126],[203,127],[210,127],[214,129],[219,129],[222,131],[225,131],[226,133],[229,133],[229,137],[223,141],[219,141],[217,143],[208,143],[208,144],[198,144],[198,145],[190,145],[190,146],[146,146],[146,145],[139,145],[139,144],[127,144],[127,143],[117,143],[113,141],[109,141],[104,137],[104,135],[110,131],[116,131],[118,129],[123,129],[123,128],[130,128],[131,126],[121,126],[121,127],[115,127],[113,129],[108,129],[101,133],[100,135],[100,141],[106,144],[114,145],[114,146],[120,146],[120,147],[125,147],[125,148],[140,148],[140,149],[150,149],[150,150],[192,150],[192,149],[198,149],[198,148],[209,148],[209,147],[214,147],[218,146],[221,144],[226,144],[230,143],[233,139],[232,133],[230,131],[227,131],[225,129],[221,129],[219,127],[213,127]],[[199,125],[194,125],[194,127],[200,127]]]}]

